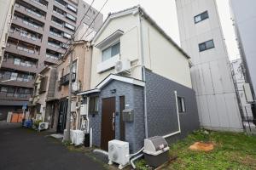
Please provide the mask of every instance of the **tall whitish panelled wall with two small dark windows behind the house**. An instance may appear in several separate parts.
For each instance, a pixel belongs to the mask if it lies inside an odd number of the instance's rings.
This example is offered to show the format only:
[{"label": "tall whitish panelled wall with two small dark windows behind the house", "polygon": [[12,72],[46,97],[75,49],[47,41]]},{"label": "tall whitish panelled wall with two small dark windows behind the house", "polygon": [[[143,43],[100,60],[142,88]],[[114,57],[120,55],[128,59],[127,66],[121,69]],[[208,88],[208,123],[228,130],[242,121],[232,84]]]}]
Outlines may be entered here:
[{"label": "tall whitish panelled wall with two small dark windows behind the house", "polygon": [[[230,74],[229,58],[214,0],[176,0],[181,46],[190,55],[201,126],[240,131],[241,116]],[[195,24],[194,17],[209,18]],[[215,48],[199,52],[199,44],[213,39]]]}]

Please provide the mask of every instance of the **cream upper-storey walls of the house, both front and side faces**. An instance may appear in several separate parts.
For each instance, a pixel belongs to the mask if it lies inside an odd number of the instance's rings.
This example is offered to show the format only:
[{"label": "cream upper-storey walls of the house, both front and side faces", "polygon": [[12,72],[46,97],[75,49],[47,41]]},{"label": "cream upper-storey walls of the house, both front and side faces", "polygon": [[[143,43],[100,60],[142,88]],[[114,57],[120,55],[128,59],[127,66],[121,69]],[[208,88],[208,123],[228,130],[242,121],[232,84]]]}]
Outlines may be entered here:
[{"label": "cream upper-storey walls of the house, both front and side faces", "polygon": [[[169,42],[166,37],[151,26],[148,20],[142,22],[143,54],[147,69],[162,77],[178,82],[183,86],[192,88],[189,72],[189,59]],[[128,14],[111,20],[98,37],[93,41],[96,45],[112,35],[115,31],[124,31],[119,38],[120,58],[129,59],[136,63],[131,65],[130,77],[142,80],[141,36],[138,14]],[[94,47],[92,52],[91,83],[90,88],[95,88],[99,82],[109,74],[115,73],[114,69],[97,73],[96,67],[102,62],[102,50]]]}]

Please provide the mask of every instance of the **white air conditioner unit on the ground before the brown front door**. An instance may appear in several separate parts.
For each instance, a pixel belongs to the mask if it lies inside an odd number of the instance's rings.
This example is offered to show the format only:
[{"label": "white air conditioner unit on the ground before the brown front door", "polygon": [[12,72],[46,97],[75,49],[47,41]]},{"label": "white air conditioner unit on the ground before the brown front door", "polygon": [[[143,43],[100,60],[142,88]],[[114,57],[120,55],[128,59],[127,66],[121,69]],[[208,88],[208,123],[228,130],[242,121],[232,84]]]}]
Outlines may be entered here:
[{"label": "white air conditioner unit on the ground before the brown front door", "polygon": [[119,164],[119,169],[129,164],[129,143],[120,140],[111,140],[108,142],[108,164],[113,162]]}]

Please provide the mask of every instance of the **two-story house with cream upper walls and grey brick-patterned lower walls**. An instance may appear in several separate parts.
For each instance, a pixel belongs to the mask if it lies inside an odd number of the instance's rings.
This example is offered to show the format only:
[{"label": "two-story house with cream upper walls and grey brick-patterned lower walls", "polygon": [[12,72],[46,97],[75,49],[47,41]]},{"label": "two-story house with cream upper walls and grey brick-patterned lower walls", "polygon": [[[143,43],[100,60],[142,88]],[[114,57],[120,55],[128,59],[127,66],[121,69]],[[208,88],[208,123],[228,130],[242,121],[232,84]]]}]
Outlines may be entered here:
[{"label": "two-story house with cream upper walls and grey brick-patterned lower walls", "polygon": [[92,144],[143,139],[168,141],[199,127],[189,56],[139,6],[109,14],[92,41],[88,106]]}]

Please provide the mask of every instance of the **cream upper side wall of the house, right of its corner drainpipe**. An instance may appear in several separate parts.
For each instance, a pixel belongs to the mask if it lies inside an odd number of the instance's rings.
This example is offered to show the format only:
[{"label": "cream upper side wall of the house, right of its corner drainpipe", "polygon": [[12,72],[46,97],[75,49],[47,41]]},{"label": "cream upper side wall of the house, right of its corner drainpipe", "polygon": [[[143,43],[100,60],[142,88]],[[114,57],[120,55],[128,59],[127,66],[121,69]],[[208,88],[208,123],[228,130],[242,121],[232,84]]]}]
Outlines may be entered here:
[{"label": "cream upper side wall of the house, right of its corner drainpipe", "polygon": [[189,59],[143,20],[143,46],[146,68],[183,86],[192,88]]}]

